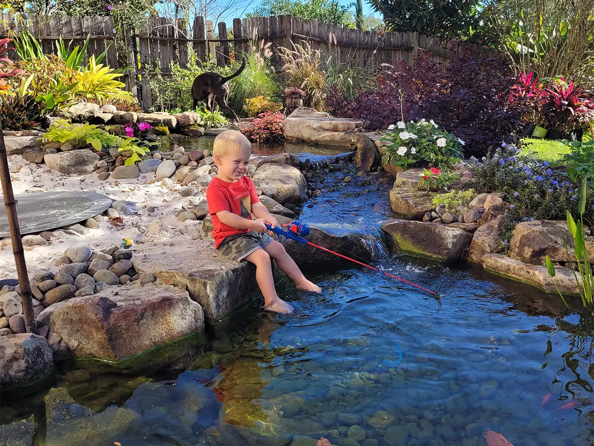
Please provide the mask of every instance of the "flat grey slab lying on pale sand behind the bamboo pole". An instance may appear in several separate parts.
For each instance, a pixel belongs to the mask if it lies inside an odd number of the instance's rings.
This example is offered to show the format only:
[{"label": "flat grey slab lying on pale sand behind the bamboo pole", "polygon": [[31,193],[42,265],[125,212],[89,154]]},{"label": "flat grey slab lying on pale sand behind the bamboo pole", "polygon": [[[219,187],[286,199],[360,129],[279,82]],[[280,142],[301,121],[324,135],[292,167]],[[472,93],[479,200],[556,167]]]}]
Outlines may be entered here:
[{"label": "flat grey slab lying on pale sand behind the bamboo pole", "polygon": [[[112,205],[108,196],[93,192],[39,192],[17,195],[21,234],[50,231],[94,217]],[[0,237],[10,235],[6,208],[0,207]]]}]

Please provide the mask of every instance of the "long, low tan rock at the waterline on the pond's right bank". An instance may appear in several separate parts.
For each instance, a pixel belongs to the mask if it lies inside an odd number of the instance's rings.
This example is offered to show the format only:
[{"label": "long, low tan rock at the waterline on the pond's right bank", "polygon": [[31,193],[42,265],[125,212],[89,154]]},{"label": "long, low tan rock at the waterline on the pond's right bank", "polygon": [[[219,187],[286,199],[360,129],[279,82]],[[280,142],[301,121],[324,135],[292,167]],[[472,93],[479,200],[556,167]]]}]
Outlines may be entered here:
[{"label": "long, low tan rock at the waterline on the pond's right bank", "polygon": [[[555,278],[551,279],[546,271],[546,266],[529,265],[501,254],[485,254],[482,256],[481,262],[486,271],[534,285],[546,293],[557,294],[558,288],[561,293],[567,296],[579,296],[580,294],[574,272],[563,266],[555,266]],[[552,282],[553,280],[555,283]]]}]

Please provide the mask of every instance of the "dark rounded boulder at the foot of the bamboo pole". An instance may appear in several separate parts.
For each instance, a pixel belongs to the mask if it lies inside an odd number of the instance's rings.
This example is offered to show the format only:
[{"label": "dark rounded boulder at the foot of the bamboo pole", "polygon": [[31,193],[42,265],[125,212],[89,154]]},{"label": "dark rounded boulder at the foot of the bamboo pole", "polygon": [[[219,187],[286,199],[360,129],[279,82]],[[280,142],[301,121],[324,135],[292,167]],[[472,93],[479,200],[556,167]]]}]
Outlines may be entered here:
[{"label": "dark rounded boulder at the foot of the bamboo pole", "polygon": [[31,333],[0,336],[0,385],[3,390],[46,378],[52,368],[52,350],[43,336]]}]

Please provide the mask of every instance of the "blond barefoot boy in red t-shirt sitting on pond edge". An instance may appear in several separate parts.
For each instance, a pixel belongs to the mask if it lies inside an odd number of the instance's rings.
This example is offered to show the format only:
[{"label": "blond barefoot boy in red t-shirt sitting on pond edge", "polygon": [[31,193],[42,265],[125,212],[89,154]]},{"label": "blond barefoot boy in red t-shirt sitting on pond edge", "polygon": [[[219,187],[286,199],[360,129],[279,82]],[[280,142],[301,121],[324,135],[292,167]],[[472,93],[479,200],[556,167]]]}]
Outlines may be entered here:
[{"label": "blond barefoot boy in red t-shirt sitting on pond edge", "polygon": [[[304,277],[282,244],[267,234],[264,223],[274,228],[279,222],[260,203],[254,183],[246,175],[251,153],[251,143],[238,131],[228,130],[214,139],[213,157],[219,171],[206,193],[214,247],[228,259],[254,263],[264,309],[292,313],[293,307],[276,294],[270,257],[298,290],[320,293],[321,289]],[[252,215],[256,219],[252,220]]]}]

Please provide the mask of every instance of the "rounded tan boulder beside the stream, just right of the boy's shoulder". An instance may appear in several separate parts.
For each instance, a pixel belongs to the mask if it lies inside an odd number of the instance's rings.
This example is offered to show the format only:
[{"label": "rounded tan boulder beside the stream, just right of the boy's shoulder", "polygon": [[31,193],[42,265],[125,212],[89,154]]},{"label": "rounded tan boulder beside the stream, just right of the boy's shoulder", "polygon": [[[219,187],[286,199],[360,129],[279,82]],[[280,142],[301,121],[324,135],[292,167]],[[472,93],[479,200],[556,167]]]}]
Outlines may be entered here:
[{"label": "rounded tan boulder beside the stream, just right of the boy's shoulder", "polygon": [[254,183],[270,184],[276,193],[270,196],[281,204],[307,200],[307,183],[299,169],[287,164],[262,164],[252,177]]}]

